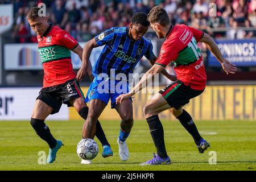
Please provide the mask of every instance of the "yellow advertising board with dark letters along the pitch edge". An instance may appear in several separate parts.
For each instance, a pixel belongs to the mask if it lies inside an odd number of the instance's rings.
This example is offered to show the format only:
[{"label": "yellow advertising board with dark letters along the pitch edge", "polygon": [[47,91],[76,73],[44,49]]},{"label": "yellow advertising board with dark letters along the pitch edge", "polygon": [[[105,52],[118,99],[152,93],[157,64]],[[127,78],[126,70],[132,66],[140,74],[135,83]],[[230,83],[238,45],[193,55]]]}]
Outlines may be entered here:
[{"label": "yellow advertising board with dark letters along the pitch edge", "polygon": [[[159,88],[159,90],[162,88]],[[87,93],[88,88],[82,88]],[[151,98],[149,94],[135,94],[133,98],[134,119],[144,120],[143,107]],[[256,120],[256,85],[212,86],[209,85],[199,97],[193,98],[184,107],[195,120]],[[70,109],[71,119],[80,119],[76,111]],[[170,111],[161,113],[160,118],[176,120]],[[109,105],[100,119],[117,119],[119,115]]]}]

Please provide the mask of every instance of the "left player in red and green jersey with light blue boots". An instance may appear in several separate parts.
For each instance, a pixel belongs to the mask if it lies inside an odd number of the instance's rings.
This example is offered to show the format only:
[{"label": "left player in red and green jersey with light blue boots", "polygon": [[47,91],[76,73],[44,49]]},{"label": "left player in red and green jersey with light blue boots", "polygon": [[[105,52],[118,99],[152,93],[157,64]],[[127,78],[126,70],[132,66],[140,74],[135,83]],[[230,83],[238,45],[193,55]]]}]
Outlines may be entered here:
[{"label": "left player in red and green jersey with light blue boots", "polygon": [[[76,79],[76,73],[73,71],[71,62],[71,51],[82,59],[81,46],[67,31],[48,24],[46,16],[39,16],[39,10],[39,7],[33,7],[27,14],[28,23],[37,34],[39,55],[44,69],[43,88],[36,98],[30,123],[36,134],[48,143],[47,163],[52,163],[56,158],[56,152],[63,146],[63,143],[52,136],[44,120],[49,114],[59,112],[62,104],[75,107],[77,113],[86,119],[88,106],[84,102],[84,94],[79,86],[79,81]],[[89,65],[87,73],[93,80],[91,65]],[[110,144],[98,121],[96,128],[96,137],[104,149],[106,148],[102,156],[105,158],[113,155]]]}]

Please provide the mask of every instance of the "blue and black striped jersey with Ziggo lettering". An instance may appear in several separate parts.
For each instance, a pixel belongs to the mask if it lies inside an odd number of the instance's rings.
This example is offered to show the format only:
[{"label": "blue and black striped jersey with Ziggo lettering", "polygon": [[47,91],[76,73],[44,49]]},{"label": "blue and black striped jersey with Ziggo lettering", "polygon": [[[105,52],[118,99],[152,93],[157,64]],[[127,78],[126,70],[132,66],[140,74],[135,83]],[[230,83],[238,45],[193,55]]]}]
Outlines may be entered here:
[{"label": "blue and black striped jersey with Ziggo lettering", "polygon": [[95,37],[97,45],[105,47],[94,64],[94,76],[106,73],[110,77],[110,69],[114,69],[115,74],[128,75],[133,73],[133,69],[143,56],[148,60],[153,58],[151,41],[144,37],[138,41],[131,40],[128,32],[129,27],[114,27]]}]

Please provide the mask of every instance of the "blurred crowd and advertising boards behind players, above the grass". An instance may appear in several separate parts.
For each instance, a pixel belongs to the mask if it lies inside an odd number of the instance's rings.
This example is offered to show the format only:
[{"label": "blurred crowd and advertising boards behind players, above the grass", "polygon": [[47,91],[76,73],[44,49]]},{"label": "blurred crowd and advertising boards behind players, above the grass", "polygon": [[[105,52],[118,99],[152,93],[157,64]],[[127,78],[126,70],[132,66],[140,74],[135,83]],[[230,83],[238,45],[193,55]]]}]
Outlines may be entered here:
[{"label": "blurred crowd and advertising boards behind players, above the grass", "polygon": [[[28,10],[42,2],[46,4],[49,22],[70,32],[81,46],[110,27],[127,26],[134,13],[148,13],[151,7],[162,5],[170,14],[172,23],[185,23],[212,35],[224,56],[238,66],[236,75],[226,75],[204,44],[199,45],[203,51],[208,86],[200,97],[186,106],[192,117],[197,120],[256,119],[256,0],[0,0],[0,120],[30,119],[42,86],[43,70],[36,35],[26,20]],[[216,16],[209,16],[210,3],[216,5]],[[146,37],[151,39],[158,55],[163,40],[156,38],[150,28]],[[93,49],[92,64],[101,49]],[[81,60],[72,54],[72,61],[77,71]],[[142,59],[135,73],[144,73],[148,68],[150,64]],[[172,64],[167,69],[172,73]],[[89,84],[87,77],[81,82],[84,93]],[[168,80],[160,77],[160,85],[166,84]],[[147,100],[148,94],[135,96],[135,119],[144,119],[142,108]],[[161,117],[174,119],[168,111]],[[119,119],[110,107],[101,118]],[[59,114],[49,119],[80,117],[73,109],[63,106]]]}]

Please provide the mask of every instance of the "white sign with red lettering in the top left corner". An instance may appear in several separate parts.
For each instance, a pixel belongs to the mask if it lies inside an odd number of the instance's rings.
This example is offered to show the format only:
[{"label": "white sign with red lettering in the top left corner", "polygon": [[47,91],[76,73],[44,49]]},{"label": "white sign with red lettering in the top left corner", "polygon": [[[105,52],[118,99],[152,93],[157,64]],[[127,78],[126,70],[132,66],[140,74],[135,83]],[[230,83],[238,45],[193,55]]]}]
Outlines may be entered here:
[{"label": "white sign with red lettering in the top left corner", "polygon": [[13,25],[13,5],[0,5],[0,35]]}]

